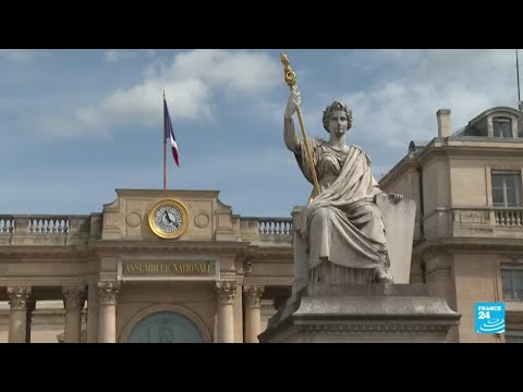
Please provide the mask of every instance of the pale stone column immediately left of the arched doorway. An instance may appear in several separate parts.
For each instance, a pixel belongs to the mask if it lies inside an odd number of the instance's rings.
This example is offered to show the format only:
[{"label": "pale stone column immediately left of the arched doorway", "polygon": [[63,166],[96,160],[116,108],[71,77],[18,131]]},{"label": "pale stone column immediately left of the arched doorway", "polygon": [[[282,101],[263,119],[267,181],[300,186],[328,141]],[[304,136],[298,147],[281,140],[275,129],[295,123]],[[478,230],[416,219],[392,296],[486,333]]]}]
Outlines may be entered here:
[{"label": "pale stone column immediately left of the arched doorway", "polygon": [[117,296],[120,282],[98,283],[99,327],[98,342],[117,343]]}]

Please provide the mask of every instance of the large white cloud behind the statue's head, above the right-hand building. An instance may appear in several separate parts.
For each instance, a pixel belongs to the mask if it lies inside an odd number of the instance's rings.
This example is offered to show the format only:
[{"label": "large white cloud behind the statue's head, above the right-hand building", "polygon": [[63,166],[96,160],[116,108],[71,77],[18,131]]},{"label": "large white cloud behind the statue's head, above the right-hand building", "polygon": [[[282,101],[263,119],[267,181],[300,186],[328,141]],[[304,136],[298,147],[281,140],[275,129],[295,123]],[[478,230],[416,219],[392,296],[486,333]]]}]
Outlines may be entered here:
[{"label": "large white cloud behind the statue's head, above the right-hand building", "polygon": [[[489,108],[516,107],[513,49],[380,50],[375,56],[375,62],[394,66],[394,76],[381,75],[373,89],[340,94],[353,110],[352,138],[406,149],[411,139],[437,136],[438,109],[451,110],[454,132]],[[319,96],[327,97],[325,105],[338,98]],[[325,106],[313,109],[305,122],[320,126]]]}]

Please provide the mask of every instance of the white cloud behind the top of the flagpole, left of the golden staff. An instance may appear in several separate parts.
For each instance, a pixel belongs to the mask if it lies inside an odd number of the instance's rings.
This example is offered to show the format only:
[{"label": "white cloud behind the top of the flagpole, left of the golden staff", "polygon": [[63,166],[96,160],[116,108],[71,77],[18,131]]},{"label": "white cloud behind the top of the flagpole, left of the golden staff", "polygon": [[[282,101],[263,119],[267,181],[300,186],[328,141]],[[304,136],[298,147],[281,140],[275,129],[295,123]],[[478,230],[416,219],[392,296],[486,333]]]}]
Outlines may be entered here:
[{"label": "white cloud behind the top of the flagpole, left of the golden staff", "polygon": [[[131,56],[131,54],[126,54]],[[150,56],[150,54],[149,54]],[[120,51],[106,51],[106,60],[119,61]],[[53,135],[102,135],[113,125],[154,125],[161,119],[162,90],[172,117],[182,120],[212,119],[218,95],[258,98],[280,83],[278,59],[256,51],[193,50],[171,62],[154,61],[142,82],[107,95],[100,102],[80,108],[68,119],[46,120]],[[262,99],[262,97],[259,98]],[[66,128],[68,123],[75,126]]]}]

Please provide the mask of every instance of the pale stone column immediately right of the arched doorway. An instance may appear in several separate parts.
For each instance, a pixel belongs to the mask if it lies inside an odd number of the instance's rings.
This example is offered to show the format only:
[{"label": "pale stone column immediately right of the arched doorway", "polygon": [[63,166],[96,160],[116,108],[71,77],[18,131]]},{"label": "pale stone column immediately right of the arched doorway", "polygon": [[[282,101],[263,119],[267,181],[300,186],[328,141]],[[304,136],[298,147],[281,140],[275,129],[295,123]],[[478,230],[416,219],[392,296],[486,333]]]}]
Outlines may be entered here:
[{"label": "pale stone column immediately right of the arched doorway", "polygon": [[233,299],[235,282],[216,282],[218,295],[218,343],[234,343]]}]

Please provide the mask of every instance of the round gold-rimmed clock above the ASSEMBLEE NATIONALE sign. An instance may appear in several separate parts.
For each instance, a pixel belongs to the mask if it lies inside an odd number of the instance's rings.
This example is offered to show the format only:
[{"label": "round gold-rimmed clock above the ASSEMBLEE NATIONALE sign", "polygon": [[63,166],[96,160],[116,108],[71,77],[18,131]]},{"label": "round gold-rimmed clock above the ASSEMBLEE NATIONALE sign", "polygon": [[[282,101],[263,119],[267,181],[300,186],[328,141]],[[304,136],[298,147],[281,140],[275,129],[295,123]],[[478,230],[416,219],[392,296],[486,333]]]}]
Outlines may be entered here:
[{"label": "round gold-rimmed clock above the ASSEMBLEE NATIONALE sign", "polygon": [[149,228],[161,238],[178,238],[187,225],[187,208],[179,200],[160,200],[149,210]]}]

